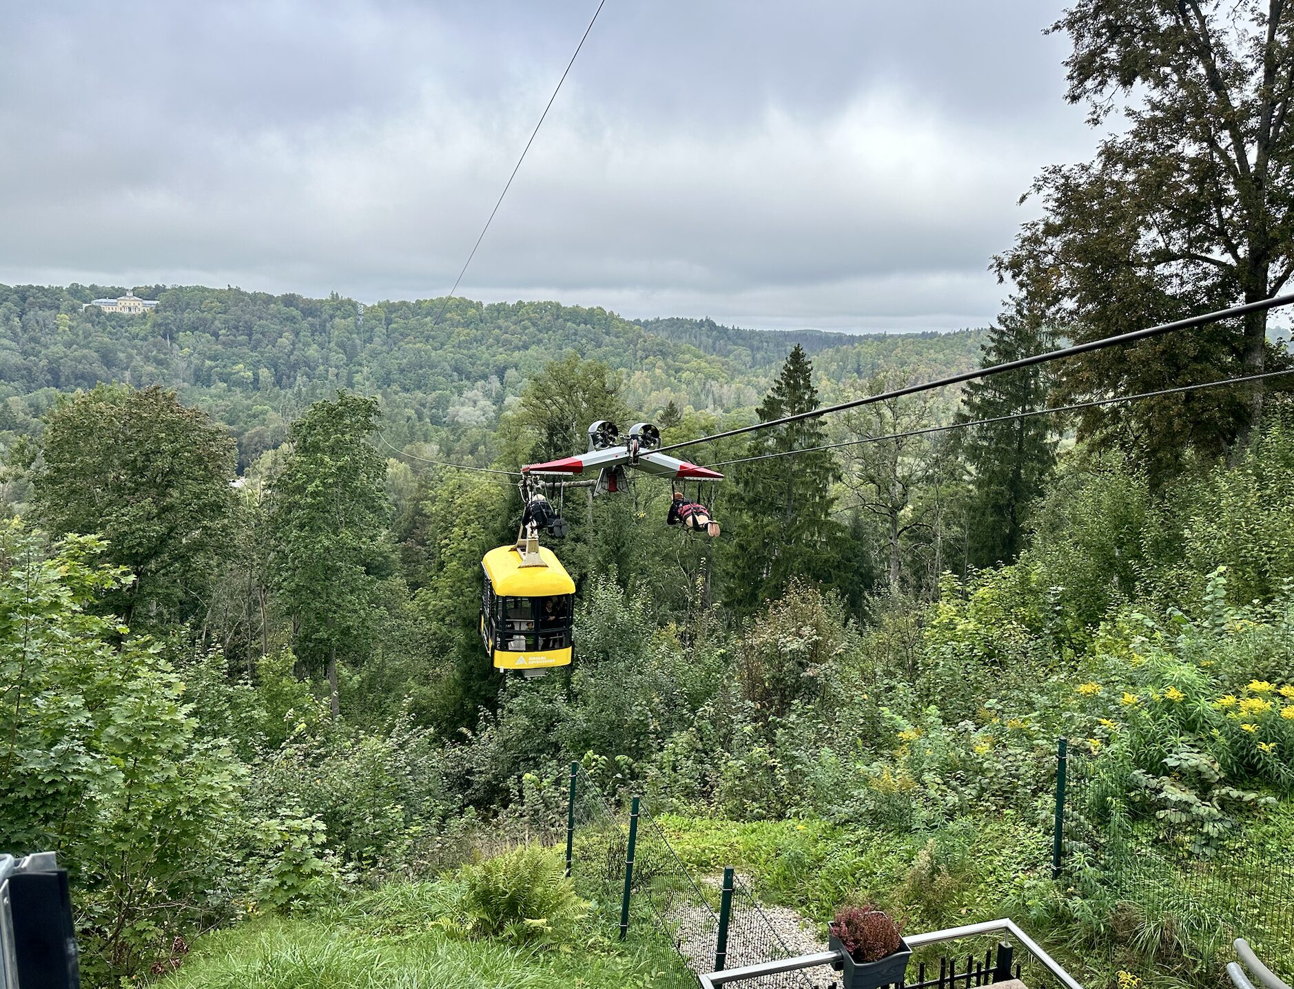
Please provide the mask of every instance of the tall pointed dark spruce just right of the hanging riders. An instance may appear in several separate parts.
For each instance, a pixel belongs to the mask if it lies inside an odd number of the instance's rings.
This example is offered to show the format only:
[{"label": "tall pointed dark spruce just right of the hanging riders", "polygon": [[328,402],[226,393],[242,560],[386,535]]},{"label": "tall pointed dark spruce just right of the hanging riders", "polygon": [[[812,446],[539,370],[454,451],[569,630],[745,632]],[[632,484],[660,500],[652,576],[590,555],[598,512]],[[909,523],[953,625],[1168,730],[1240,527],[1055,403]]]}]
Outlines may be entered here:
[{"label": "tall pointed dark spruce just right of the hanging riders", "polygon": [[[797,344],[773,390],[758,407],[761,423],[818,407],[813,365]],[[745,456],[822,446],[818,419],[761,429]],[[753,460],[734,467],[735,531],[729,551],[727,596],[752,610],[779,597],[796,577],[829,580],[837,571],[841,526],[832,520],[832,484],[839,480],[829,452]]]}]

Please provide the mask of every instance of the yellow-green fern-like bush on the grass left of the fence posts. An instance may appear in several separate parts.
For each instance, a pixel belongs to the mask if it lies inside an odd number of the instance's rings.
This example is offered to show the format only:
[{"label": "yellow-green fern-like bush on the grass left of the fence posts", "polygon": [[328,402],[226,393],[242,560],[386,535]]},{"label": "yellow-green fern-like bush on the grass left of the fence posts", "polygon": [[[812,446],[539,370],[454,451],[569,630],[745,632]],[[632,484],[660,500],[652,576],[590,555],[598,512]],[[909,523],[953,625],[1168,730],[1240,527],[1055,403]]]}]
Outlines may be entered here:
[{"label": "yellow-green fern-like bush on the grass left of the fence posts", "polygon": [[558,855],[528,845],[458,870],[461,892],[446,924],[471,937],[560,941],[585,917]]}]

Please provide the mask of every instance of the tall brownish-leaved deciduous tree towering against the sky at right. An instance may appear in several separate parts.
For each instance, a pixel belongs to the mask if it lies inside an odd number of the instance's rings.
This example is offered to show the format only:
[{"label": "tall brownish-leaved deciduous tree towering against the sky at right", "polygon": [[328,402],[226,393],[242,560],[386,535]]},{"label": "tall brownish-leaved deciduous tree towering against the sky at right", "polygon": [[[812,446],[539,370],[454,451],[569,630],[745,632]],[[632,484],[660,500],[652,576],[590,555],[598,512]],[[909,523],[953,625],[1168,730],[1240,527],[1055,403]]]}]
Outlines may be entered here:
[{"label": "tall brownish-leaved deciduous tree towering against the sky at right", "polygon": [[[1043,216],[998,259],[1075,340],[1251,303],[1294,273],[1294,6],[1289,0],[1077,0],[1068,98],[1126,120],[1096,158],[1052,165]],[[1269,366],[1267,317],[1175,334],[1066,365],[1060,393],[1143,392]],[[1152,476],[1183,451],[1244,443],[1264,384],[1088,410],[1082,433],[1134,450]]]}]

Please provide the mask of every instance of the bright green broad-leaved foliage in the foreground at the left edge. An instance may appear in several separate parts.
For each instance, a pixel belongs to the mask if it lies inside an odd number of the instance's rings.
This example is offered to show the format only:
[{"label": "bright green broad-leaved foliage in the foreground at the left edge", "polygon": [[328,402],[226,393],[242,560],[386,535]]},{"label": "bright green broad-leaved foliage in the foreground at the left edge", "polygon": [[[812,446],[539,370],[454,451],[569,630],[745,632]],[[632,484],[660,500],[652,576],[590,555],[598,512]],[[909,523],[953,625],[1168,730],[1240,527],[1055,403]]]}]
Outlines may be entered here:
[{"label": "bright green broad-leaved foliage in the foreground at the left edge", "polygon": [[97,617],[124,579],[102,543],[0,530],[0,845],[57,851],[76,886],[83,971],[149,963],[208,902],[239,767],[197,733],[160,648]]}]

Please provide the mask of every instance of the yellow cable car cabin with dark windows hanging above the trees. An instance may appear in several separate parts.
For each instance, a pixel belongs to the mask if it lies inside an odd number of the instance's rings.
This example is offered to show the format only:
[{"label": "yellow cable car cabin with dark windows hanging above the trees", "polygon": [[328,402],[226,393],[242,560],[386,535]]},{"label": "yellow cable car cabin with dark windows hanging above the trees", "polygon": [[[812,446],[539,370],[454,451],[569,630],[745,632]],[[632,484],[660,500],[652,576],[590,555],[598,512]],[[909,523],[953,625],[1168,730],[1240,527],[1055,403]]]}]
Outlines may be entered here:
[{"label": "yellow cable car cabin with dark windows hanging above the trees", "polygon": [[481,641],[494,668],[533,677],[569,666],[575,580],[556,555],[523,535],[485,553],[481,568]]}]

